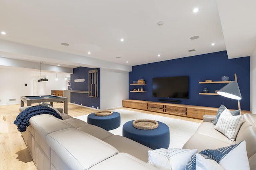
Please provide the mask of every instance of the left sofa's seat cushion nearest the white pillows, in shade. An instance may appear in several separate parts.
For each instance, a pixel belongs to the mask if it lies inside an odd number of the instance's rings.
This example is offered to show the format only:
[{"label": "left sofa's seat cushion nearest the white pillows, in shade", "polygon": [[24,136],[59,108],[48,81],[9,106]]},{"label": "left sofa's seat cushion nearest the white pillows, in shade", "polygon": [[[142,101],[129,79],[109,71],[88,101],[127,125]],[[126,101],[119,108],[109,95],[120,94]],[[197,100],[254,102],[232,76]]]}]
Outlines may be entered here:
[{"label": "left sofa's seat cushion nearest the white pillows, in shade", "polygon": [[132,139],[119,135],[112,135],[103,141],[115,147],[119,152],[126,152],[144,162],[148,162],[148,150],[152,150],[151,148],[135,142]]}]

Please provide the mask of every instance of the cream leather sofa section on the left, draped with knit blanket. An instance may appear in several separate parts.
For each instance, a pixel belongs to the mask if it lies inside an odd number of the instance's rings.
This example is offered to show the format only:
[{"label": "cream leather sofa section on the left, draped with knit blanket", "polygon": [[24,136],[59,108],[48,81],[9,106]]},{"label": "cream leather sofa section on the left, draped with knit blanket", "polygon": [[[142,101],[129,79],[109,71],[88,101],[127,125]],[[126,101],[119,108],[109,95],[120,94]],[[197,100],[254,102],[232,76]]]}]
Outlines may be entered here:
[{"label": "cream leather sofa section on the left, draped with knit blanket", "polygon": [[38,170],[156,170],[148,150],[126,137],[61,113],[30,118],[22,137]]}]

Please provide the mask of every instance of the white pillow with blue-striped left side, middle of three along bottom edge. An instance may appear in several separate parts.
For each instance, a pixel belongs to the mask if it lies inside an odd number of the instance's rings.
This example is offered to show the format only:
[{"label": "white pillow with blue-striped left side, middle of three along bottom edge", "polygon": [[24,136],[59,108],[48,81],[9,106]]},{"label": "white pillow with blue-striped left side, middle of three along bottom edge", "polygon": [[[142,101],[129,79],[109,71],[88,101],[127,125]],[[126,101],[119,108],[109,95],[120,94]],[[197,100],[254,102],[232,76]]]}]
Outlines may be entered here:
[{"label": "white pillow with blue-striped left side, middle of three along bottom edge", "polygon": [[217,162],[203,154],[193,154],[185,170],[224,170]]}]

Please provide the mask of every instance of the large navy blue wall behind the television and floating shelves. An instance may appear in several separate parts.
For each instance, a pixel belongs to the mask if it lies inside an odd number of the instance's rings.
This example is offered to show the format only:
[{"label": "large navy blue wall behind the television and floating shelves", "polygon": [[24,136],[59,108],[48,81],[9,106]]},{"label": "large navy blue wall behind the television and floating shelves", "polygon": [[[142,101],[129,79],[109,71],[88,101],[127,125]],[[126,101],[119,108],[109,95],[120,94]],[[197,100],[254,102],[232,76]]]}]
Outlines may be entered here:
[{"label": "large navy blue wall behind the television and floating shelves", "polygon": [[[229,109],[238,109],[237,100],[216,95],[199,95],[204,88],[210,93],[219,90],[226,84],[199,84],[205,79],[221,81],[222,76],[229,76],[230,81],[235,81],[234,73],[237,74],[238,85],[242,95],[240,100],[241,109],[250,110],[250,57],[228,59],[226,51],[185,57],[162,61],[157,63],[132,66],[129,72],[129,84],[134,80],[144,79],[147,85],[129,85],[129,99],[162,102],[158,99],[180,100],[180,103],[195,106],[220,107],[221,104]],[[157,98],[152,96],[152,78],[189,76],[189,98]],[[130,92],[134,88],[144,88],[146,93]]]}]

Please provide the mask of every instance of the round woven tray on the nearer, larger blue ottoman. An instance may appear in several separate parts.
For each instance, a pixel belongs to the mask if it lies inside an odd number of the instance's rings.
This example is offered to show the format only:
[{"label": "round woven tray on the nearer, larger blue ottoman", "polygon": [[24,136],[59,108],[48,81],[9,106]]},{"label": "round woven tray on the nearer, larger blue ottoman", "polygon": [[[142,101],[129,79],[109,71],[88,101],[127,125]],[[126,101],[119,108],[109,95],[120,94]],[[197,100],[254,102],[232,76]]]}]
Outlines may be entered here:
[{"label": "round woven tray on the nearer, larger blue ottoman", "polygon": [[133,127],[142,130],[152,130],[158,128],[158,122],[150,119],[138,119],[132,122]]}]

